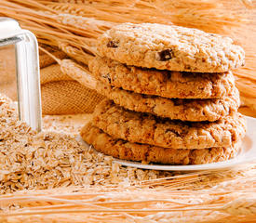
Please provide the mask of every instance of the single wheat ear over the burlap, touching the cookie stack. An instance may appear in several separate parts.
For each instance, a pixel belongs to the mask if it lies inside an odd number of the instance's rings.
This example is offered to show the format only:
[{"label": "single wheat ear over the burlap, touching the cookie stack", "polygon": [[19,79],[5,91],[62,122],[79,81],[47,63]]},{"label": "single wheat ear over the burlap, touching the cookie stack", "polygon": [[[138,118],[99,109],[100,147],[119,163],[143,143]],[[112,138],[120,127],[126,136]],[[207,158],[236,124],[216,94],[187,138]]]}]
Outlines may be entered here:
[{"label": "single wheat ear over the burlap, touching the cookie stack", "polygon": [[62,59],[61,71],[71,76],[74,80],[90,89],[95,89],[97,81],[89,72],[71,59]]}]

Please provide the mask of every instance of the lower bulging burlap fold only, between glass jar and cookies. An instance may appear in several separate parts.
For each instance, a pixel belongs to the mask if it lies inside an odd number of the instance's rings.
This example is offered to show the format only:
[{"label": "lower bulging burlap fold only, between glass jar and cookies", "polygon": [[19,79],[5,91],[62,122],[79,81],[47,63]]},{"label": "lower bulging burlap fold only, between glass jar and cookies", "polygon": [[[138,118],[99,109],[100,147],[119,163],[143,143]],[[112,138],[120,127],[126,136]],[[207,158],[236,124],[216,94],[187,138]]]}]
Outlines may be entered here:
[{"label": "lower bulging burlap fold only, between glass jar and cookies", "polygon": [[44,114],[93,112],[103,98],[76,81],[50,82],[41,86]]}]

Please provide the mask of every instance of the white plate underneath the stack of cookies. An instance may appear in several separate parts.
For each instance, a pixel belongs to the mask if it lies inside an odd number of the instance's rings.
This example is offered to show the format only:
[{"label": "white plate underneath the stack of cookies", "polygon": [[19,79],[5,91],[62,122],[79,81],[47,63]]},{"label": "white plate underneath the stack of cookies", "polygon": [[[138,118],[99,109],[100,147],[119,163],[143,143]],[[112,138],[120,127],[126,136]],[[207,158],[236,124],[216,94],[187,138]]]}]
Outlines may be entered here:
[{"label": "white plate underneath the stack of cookies", "polygon": [[[131,162],[126,160],[114,159],[117,164],[132,166],[141,169],[168,170],[168,171],[198,171],[198,170],[217,170],[225,168],[234,168],[241,164],[256,162],[256,119],[246,117],[247,135],[244,138],[241,150],[238,155],[229,160],[213,164],[193,164],[193,165],[170,165],[170,164],[141,164],[140,162]],[[77,140],[84,145],[89,146],[81,137]],[[98,151],[96,151],[98,152]]]}]

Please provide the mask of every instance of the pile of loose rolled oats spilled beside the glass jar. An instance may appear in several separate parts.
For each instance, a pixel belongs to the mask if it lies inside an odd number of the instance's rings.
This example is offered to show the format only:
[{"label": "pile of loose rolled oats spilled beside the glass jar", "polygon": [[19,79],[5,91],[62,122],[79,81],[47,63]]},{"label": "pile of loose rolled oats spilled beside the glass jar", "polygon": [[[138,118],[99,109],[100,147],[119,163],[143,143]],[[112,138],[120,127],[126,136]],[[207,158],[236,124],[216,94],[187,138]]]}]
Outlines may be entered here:
[{"label": "pile of loose rolled oats spilled beside the glass jar", "polygon": [[141,170],[113,163],[76,140],[89,115],[45,116],[36,134],[18,121],[16,105],[0,98],[0,192],[67,186],[120,185],[170,177],[169,172]]}]

